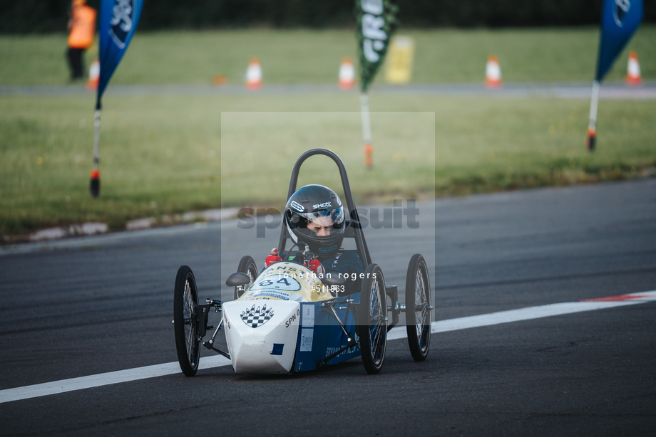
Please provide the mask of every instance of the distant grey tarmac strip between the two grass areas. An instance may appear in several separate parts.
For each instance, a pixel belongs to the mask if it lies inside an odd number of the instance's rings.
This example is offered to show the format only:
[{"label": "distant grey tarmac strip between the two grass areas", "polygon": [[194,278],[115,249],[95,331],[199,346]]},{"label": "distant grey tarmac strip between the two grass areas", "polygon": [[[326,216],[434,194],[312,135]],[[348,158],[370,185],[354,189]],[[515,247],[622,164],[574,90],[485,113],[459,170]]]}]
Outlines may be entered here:
[{"label": "distant grey tarmac strip between the two grass areas", "polygon": [[[374,84],[371,93],[403,95],[453,95],[502,98],[574,98],[590,99],[590,83],[506,83],[501,88],[486,88],[482,83],[444,83],[386,85]],[[0,95],[93,95],[83,85],[2,85]],[[105,95],[312,95],[357,93],[340,90],[328,84],[265,84],[252,91],[239,85],[112,85]],[[604,83],[600,99],[656,100],[656,82],[645,81],[641,86],[621,82]]]}]

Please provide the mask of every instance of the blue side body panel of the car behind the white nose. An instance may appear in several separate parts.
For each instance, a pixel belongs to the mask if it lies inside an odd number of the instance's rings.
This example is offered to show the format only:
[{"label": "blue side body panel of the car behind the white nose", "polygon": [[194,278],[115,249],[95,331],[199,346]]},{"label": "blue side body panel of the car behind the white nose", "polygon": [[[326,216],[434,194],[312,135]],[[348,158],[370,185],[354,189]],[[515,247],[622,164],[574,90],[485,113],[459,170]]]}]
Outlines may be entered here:
[{"label": "blue side body panel of the car behind the white nose", "polygon": [[[359,293],[350,295],[355,302],[359,301]],[[317,362],[321,361],[330,354],[334,354],[342,347],[347,346],[347,337],[339,326],[334,315],[329,308],[322,308],[321,302],[300,302],[301,320],[299,322],[299,334],[296,343],[296,357],[292,369],[294,372],[303,372],[305,370],[314,370],[317,368]],[[339,310],[337,307],[344,307]],[[347,310],[347,304],[335,305],[335,311],[339,319],[344,323],[347,332],[357,339],[355,334],[355,318],[353,312]],[[342,354],[331,359],[328,364],[337,364],[347,359],[360,356],[360,349],[352,347],[346,349]]]}]

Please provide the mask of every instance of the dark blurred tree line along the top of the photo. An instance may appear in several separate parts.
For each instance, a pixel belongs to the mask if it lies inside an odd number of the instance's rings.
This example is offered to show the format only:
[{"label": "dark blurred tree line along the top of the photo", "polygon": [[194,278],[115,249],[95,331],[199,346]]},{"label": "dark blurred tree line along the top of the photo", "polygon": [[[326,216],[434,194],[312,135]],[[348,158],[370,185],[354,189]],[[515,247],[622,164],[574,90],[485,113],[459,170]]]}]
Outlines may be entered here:
[{"label": "dark blurred tree line along the top of the photo", "polygon": [[[88,0],[98,9],[100,0]],[[397,0],[405,28],[599,23],[602,0]],[[644,0],[656,22],[656,0]],[[0,33],[65,32],[69,0],[0,0]],[[145,0],[140,30],[354,25],[354,0]]]}]

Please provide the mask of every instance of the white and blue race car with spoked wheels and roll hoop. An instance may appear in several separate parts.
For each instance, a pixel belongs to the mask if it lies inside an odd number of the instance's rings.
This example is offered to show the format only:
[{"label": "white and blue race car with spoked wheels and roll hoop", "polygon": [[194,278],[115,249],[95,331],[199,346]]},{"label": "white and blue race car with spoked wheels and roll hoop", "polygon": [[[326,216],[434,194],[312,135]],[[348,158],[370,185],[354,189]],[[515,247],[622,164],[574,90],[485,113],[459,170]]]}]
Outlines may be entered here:
[{"label": "white and blue race car with spoked wheels and roll hoop", "polygon": [[[287,374],[318,369],[362,356],[369,374],[380,372],[387,332],[406,313],[412,357],[423,361],[431,342],[431,285],[426,261],[411,257],[406,274],[405,305],[396,285],[386,286],[379,265],[371,262],[362,226],[352,198],[344,163],[334,152],[312,149],[302,154],[292,169],[287,199],[296,191],[299,169],[314,155],[331,158],[339,169],[349,221],[344,238],[353,238],[364,275],[359,290],[345,290],[342,275],[317,275],[309,268],[314,256],[298,241],[287,253],[289,228],[282,226],[277,251],[281,260],[262,271],[245,256],[237,273],[226,280],[235,288],[235,300],[198,300],[192,270],[183,265],[175,278],[173,323],[180,369],[193,377],[200,362],[200,346],[229,358],[240,374]],[[295,249],[295,251],[294,251]],[[216,327],[208,324],[210,310],[221,312]],[[209,339],[208,333],[214,330]],[[228,351],[215,347],[223,330]]]}]

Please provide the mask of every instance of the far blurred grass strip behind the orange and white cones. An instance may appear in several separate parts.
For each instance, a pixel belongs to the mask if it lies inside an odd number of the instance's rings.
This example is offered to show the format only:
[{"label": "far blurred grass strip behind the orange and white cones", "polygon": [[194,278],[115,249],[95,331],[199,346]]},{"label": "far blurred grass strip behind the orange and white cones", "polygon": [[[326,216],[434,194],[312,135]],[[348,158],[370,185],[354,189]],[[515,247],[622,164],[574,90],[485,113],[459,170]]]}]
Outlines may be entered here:
[{"label": "far blurred grass strip behind the orange and white cones", "polygon": [[[503,79],[592,80],[599,30],[583,28],[401,29],[416,40],[415,83],[481,83],[490,53]],[[656,26],[643,24],[617,58],[606,80],[622,80],[630,50],[637,51],[644,78],[656,78]],[[0,84],[61,85],[68,82],[66,35],[0,36]],[[86,55],[91,62],[97,53]],[[355,58],[354,31],[247,29],[203,32],[138,32],[113,84],[209,84],[245,80],[248,60],[260,58],[265,83],[337,83],[344,56]],[[381,80],[382,75],[378,75]]]}]

